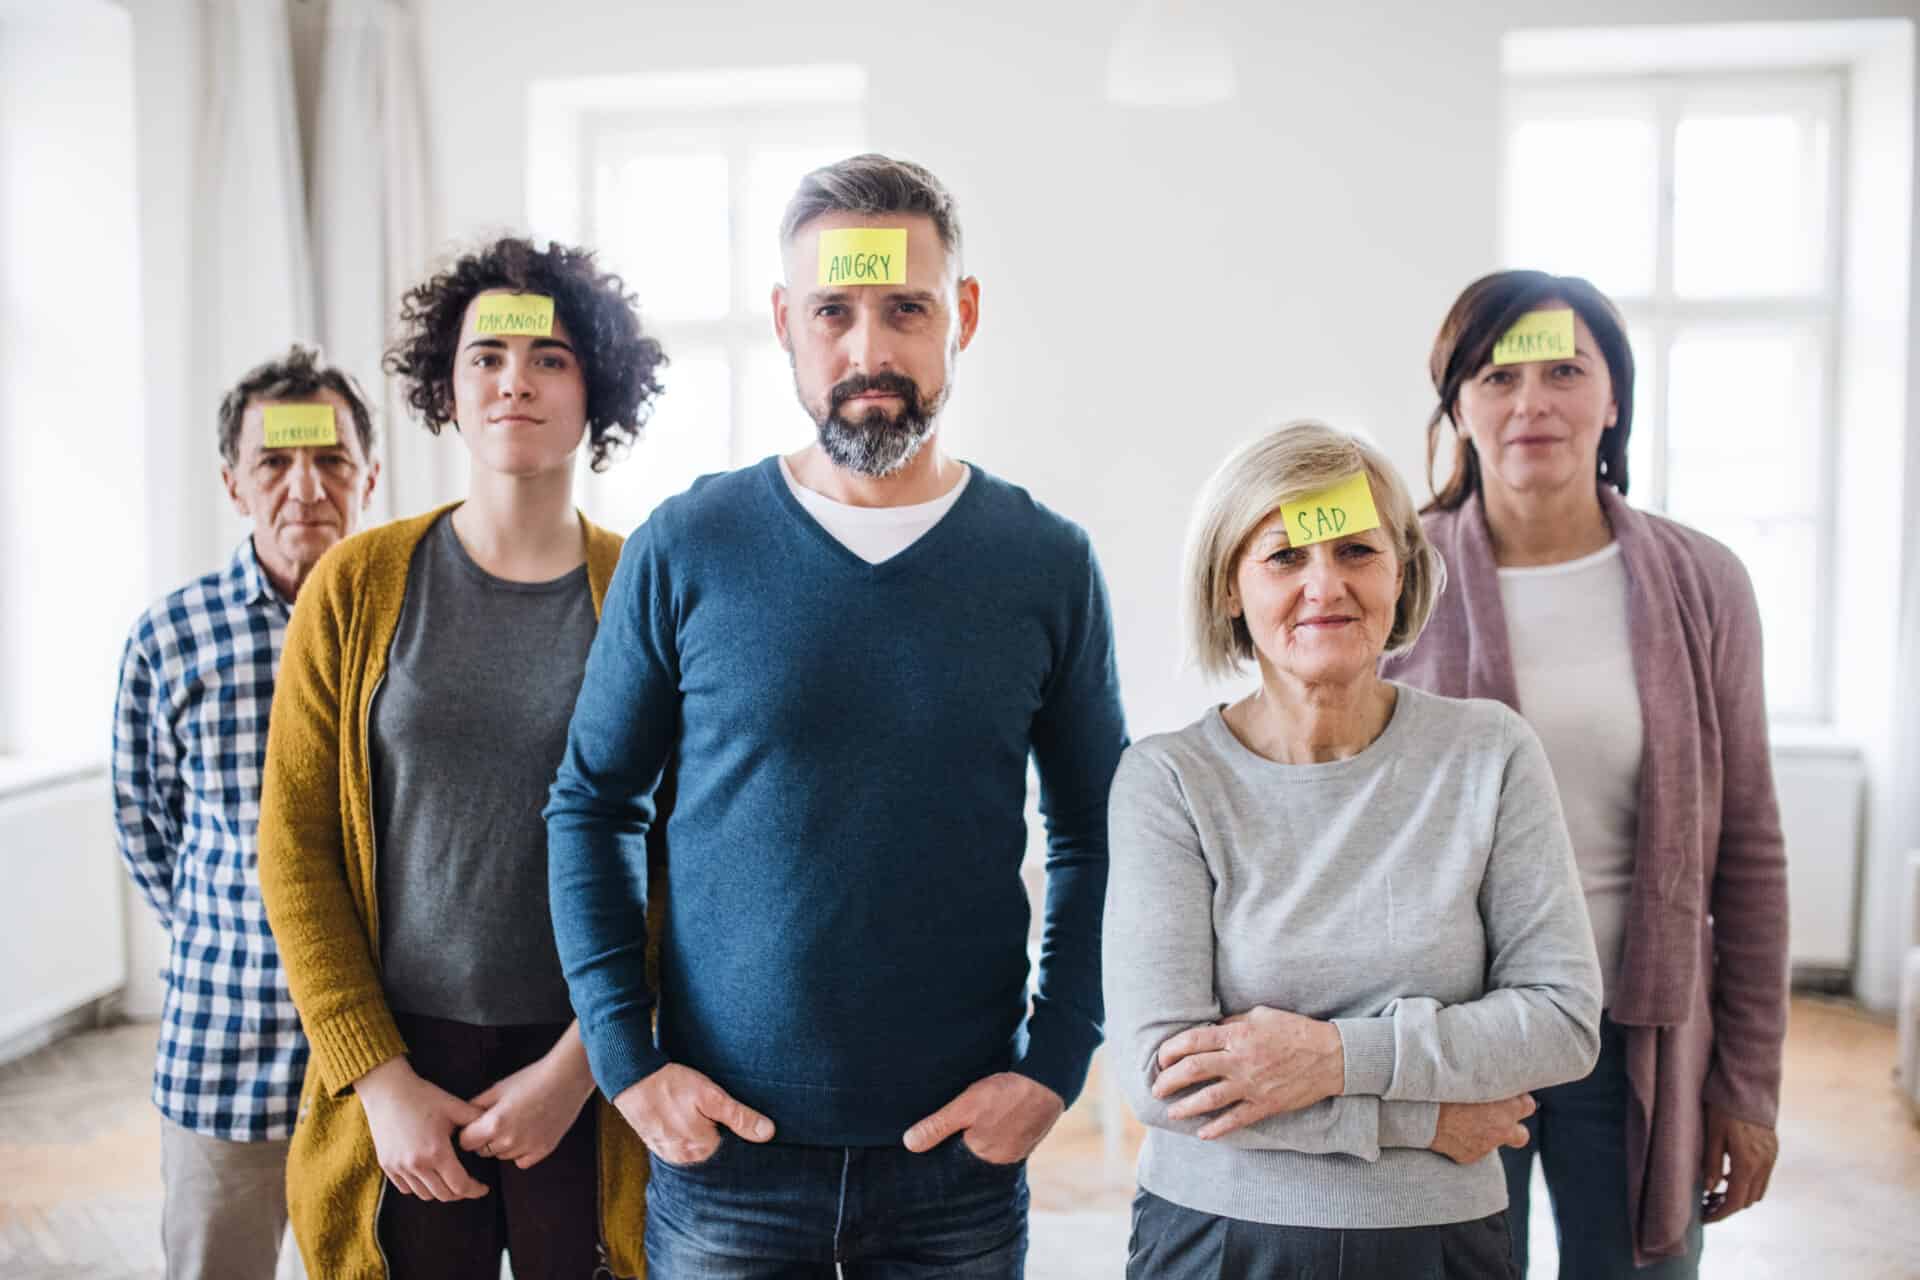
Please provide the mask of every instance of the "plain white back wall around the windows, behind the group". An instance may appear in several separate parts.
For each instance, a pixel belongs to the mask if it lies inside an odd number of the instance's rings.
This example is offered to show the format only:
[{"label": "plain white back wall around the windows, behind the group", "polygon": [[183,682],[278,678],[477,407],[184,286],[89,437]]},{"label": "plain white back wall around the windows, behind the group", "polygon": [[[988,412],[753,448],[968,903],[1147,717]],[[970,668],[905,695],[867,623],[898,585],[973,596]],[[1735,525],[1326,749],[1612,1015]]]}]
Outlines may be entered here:
[{"label": "plain white back wall around the windows, behind the group", "polygon": [[[184,271],[175,249],[188,209],[177,186],[190,173],[198,6],[127,4],[140,40],[148,294],[184,297],[159,286]],[[1415,491],[1425,487],[1427,347],[1457,288],[1496,265],[1509,27],[1914,15],[1910,0],[1596,0],[1563,17],[1425,0],[1194,8],[1217,19],[1238,63],[1240,94],[1221,107],[1104,102],[1106,50],[1131,10],[1121,0],[960,10],[568,0],[540,15],[524,0],[415,0],[434,230],[474,238],[522,221],[518,106],[534,79],[841,63],[881,50],[868,61],[868,136],[929,163],[958,192],[985,290],[950,438],[1091,530],[1139,735],[1185,723],[1219,697],[1175,670],[1173,581],[1187,505],[1233,443],[1321,415],[1371,428]],[[1899,71],[1912,75],[1910,54]],[[1903,234],[1910,244],[1910,223]],[[1912,263],[1905,271],[1910,284]],[[1910,301],[1907,322],[1912,347]],[[171,476],[159,491],[180,499],[175,520],[152,522],[163,585],[227,547],[205,443],[211,403],[186,393],[182,361],[156,332],[152,399],[169,426],[156,432],[163,453],[150,472]],[[1893,430],[1920,453],[1910,386],[1895,399]],[[630,464],[643,466],[645,449]],[[1920,464],[1908,472],[1912,543]],[[1885,555],[1897,599],[1901,549]],[[1907,608],[1920,618],[1920,603]],[[1885,616],[1897,628],[1895,610]],[[1891,649],[1885,635],[1874,645]],[[1889,700],[1897,687],[1920,691],[1920,674],[1897,677],[1884,664],[1860,679]],[[1874,923],[1891,915],[1872,904],[1899,898],[1897,850],[1920,844],[1916,808],[1889,796],[1874,814],[1862,979],[1876,1004],[1891,1000],[1876,975],[1891,973],[1899,931]]]}]

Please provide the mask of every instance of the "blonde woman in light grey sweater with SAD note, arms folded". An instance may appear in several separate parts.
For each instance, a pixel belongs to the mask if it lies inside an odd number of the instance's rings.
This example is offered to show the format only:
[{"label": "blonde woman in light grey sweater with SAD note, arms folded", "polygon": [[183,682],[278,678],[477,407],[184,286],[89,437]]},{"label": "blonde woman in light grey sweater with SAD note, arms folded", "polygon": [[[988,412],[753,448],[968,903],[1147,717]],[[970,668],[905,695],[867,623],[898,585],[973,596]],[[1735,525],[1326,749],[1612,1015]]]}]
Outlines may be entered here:
[{"label": "blonde woman in light grey sweater with SAD note, arms folded", "polygon": [[1444,583],[1371,445],[1300,422],[1202,495],[1204,670],[1258,689],[1121,760],[1106,1004],[1148,1125],[1129,1276],[1511,1276],[1500,1146],[1599,1046],[1532,729],[1377,676]]}]

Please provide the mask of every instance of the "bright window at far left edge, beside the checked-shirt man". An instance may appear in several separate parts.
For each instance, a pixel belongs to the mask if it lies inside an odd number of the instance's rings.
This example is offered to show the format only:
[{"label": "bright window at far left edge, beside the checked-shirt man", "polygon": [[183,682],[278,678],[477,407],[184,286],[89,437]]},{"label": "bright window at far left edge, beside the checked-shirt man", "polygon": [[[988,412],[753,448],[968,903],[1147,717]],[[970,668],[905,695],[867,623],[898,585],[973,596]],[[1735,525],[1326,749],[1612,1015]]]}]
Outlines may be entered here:
[{"label": "bright window at far left edge, beside the checked-shirt man", "polygon": [[182,447],[142,388],[132,71],[123,6],[0,4],[0,756],[102,758],[148,451]]}]

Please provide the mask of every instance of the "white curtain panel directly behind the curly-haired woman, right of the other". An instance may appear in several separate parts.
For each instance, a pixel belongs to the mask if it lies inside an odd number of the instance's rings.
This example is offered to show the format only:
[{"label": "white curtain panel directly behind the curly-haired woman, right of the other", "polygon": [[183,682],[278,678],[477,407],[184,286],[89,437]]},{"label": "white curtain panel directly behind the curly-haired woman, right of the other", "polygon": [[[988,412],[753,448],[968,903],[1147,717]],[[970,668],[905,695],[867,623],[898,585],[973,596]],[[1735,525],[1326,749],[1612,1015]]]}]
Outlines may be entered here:
[{"label": "white curtain panel directly behind the curly-haired woman, right of the other", "polygon": [[453,451],[419,428],[380,372],[399,294],[428,267],[426,201],[413,19],[394,0],[332,0],[309,201],[321,340],[374,401],[382,518],[413,514],[451,491]]}]

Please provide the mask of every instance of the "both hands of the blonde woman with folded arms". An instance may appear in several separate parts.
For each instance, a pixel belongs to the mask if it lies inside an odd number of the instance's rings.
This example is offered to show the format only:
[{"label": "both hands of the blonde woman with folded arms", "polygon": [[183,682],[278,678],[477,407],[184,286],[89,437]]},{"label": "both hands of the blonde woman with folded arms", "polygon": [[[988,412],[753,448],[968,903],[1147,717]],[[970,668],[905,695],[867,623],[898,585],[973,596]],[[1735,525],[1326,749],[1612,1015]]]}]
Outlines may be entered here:
[{"label": "both hands of the blonde woman with folded arms", "polygon": [[[1346,1050],[1332,1023],[1256,1006],[1167,1036],[1158,1054],[1154,1098],[1187,1092],[1167,1117],[1212,1115],[1196,1136],[1221,1138],[1269,1115],[1300,1111],[1346,1088]],[[1526,1146],[1534,1113],[1526,1094],[1501,1102],[1440,1103],[1430,1151],[1471,1165],[1501,1146]]]}]

